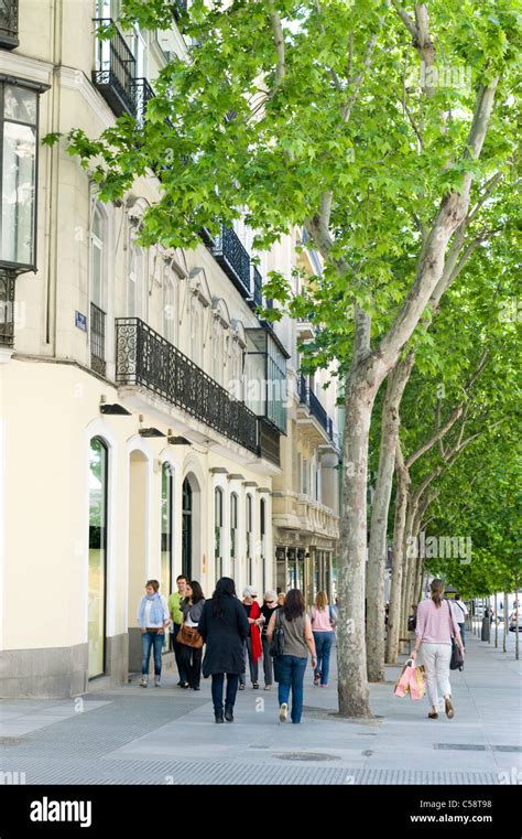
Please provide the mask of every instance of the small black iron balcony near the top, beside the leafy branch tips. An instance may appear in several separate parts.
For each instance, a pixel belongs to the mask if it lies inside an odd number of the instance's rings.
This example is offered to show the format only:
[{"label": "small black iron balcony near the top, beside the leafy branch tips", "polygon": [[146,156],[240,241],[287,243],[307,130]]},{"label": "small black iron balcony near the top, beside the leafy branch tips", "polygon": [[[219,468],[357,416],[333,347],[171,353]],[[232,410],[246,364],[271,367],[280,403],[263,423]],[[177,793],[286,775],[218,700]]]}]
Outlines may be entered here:
[{"label": "small black iron balcony near the top, beside the leafy branch tips", "polygon": [[[97,30],[113,24],[111,18],[96,18]],[[121,114],[135,116],[135,58],[123,35],[116,31],[110,41],[97,40],[98,69],[93,72],[93,84],[112,108]]]}]

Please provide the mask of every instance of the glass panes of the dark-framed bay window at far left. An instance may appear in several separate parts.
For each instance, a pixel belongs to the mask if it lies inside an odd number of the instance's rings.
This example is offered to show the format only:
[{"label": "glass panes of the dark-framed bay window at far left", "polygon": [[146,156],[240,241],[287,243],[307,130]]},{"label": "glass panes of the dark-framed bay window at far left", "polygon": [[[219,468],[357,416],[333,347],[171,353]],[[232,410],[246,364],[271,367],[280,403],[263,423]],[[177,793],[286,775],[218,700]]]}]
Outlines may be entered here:
[{"label": "glass panes of the dark-framed bay window at far left", "polygon": [[37,107],[35,89],[0,83],[0,260],[7,268],[35,268]]}]

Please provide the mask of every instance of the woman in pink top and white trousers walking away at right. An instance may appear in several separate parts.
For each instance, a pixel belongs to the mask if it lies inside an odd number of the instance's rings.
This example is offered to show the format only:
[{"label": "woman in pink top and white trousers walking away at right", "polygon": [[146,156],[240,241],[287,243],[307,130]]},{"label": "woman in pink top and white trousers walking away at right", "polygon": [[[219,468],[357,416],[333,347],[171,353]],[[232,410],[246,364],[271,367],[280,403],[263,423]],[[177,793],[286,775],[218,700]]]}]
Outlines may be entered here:
[{"label": "woman in pink top and white trousers walking away at right", "polygon": [[417,657],[422,645],[422,659],[426,668],[427,693],[432,703],[428,712],[431,720],[438,718],[438,686],[444,696],[446,717],[455,716],[449,684],[449,663],[452,660],[452,637],[456,638],[464,655],[460,630],[449,601],[444,599],[444,582],[435,579],[431,582],[431,599],[423,600],[417,606],[415,628],[415,649],[412,659]]}]

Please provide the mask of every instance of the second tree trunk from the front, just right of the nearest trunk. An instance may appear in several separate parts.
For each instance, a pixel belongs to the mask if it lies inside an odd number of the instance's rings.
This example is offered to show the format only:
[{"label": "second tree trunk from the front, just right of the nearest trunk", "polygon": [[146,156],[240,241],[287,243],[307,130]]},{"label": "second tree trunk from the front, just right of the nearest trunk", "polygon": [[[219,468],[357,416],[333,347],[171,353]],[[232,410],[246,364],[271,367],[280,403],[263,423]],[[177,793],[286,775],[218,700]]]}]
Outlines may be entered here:
[{"label": "second tree trunk from the front, just right of the nearest trunk", "polygon": [[384,680],[384,570],[388,555],[388,514],[395,467],[395,448],[400,428],[399,406],[410,378],[414,355],[410,353],[388,377],[382,405],[379,472],[370,523],[370,548],[367,580],[368,679]]}]

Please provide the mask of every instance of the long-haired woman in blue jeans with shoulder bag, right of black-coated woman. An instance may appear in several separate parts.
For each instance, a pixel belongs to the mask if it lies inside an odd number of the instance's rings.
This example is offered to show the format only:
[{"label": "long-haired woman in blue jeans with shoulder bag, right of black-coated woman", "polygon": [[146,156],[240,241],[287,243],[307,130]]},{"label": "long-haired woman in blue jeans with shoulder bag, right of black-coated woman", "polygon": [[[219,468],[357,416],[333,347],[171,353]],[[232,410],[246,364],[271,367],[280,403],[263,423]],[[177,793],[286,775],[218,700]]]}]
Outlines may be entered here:
[{"label": "long-haired woman in blue jeans with shoulder bag, right of black-coated woman", "polygon": [[267,631],[270,643],[274,632],[279,628],[282,628],[284,633],[284,652],[283,655],[278,656],[279,719],[281,722],[286,722],[292,689],[291,719],[292,722],[297,723],[301,722],[303,713],[303,681],[308,663],[308,652],[312,654],[312,667],[314,669],[317,667],[312,624],[306,614],[303,594],[298,589],[289,591],[283,607],[275,610],[270,619]]}]

